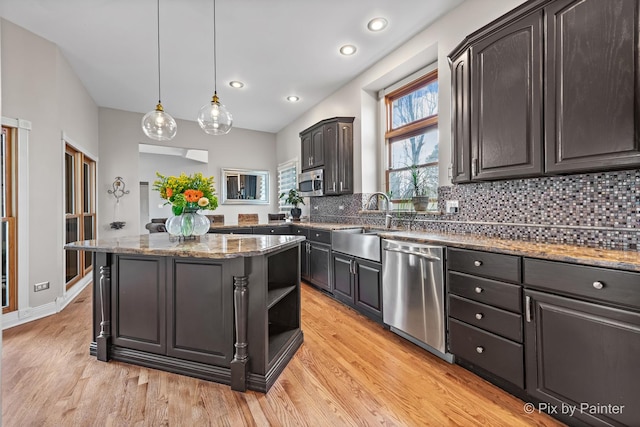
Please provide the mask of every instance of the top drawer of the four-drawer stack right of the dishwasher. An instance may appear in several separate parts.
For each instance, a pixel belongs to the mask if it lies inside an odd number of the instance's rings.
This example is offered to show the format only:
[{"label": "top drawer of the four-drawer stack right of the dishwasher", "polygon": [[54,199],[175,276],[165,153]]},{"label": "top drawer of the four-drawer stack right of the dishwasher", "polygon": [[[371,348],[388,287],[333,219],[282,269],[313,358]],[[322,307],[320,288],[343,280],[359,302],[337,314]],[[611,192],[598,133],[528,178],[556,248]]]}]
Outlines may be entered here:
[{"label": "top drawer of the four-drawer stack right of the dishwasher", "polygon": [[455,248],[447,253],[450,270],[520,283],[520,257]]}]

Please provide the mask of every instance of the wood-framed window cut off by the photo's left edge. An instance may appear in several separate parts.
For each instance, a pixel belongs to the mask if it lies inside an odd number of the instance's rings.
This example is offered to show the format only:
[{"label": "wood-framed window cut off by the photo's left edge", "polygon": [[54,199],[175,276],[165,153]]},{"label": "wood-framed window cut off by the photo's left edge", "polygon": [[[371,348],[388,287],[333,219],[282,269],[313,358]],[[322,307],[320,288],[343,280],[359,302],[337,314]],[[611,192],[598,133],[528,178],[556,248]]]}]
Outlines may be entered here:
[{"label": "wood-framed window cut off by the photo's left edge", "polygon": [[15,206],[15,150],[12,129],[2,127],[0,136],[0,187],[2,194],[2,312],[15,311],[17,294],[17,227]]}]

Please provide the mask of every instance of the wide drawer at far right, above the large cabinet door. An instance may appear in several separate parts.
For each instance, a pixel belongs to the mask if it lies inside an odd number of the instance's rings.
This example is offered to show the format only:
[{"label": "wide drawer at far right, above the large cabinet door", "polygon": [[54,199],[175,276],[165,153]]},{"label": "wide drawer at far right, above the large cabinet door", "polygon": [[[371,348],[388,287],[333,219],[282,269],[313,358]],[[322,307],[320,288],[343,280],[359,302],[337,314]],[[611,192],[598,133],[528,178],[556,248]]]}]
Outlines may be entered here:
[{"label": "wide drawer at far right, above the large cabinet door", "polygon": [[640,273],[525,258],[527,285],[640,309]]}]

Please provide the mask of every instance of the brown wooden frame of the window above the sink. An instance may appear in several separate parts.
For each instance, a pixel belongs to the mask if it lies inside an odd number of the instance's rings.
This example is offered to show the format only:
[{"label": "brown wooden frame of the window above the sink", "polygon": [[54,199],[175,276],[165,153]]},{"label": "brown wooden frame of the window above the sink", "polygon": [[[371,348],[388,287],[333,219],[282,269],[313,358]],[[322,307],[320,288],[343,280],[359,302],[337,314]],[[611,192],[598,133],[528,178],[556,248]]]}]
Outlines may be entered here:
[{"label": "brown wooden frame of the window above the sink", "polygon": [[[405,139],[425,134],[431,129],[436,129],[438,131],[438,112],[432,114],[427,117],[423,117],[421,119],[415,120],[411,123],[404,124],[397,128],[393,128],[393,103],[397,99],[400,99],[412,92],[415,92],[423,87],[428,86],[433,82],[438,82],[438,69],[435,68],[430,72],[427,72],[421,77],[412,80],[411,82],[401,86],[398,89],[395,89],[387,94],[384,97],[385,103],[385,152],[386,152],[386,160],[385,160],[385,191],[389,192],[389,175],[391,172],[403,172],[411,169],[411,166],[407,165],[407,167],[402,168],[392,168],[392,144],[395,142],[403,141]],[[438,106],[439,110],[439,106]],[[439,138],[438,138],[439,145]],[[439,161],[435,162],[426,162],[415,165],[418,168],[428,168],[433,166],[439,166]],[[437,191],[437,188],[435,189]],[[396,203],[404,203],[409,201],[408,198],[399,198],[393,197],[391,199]]]}]

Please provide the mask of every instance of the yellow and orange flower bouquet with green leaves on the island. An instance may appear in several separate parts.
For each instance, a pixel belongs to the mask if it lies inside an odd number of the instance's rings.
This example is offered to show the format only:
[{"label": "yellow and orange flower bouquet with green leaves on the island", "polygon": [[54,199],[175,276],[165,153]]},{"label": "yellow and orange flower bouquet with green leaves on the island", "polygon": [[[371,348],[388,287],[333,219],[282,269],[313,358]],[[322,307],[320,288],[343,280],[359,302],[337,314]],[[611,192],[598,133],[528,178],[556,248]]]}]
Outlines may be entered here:
[{"label": "yellow and orange flower bouquet with green leaves on the island", "polygon": [[209,209],[218,207],[213,177],[204,177],[198,172],[191,175],[181,173],[180,176],[164,176],[156,172],[157,180],[153,189],[160,192],[160,197],[171,205],[174,215],[180,215],[185,209]]}]

